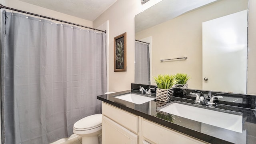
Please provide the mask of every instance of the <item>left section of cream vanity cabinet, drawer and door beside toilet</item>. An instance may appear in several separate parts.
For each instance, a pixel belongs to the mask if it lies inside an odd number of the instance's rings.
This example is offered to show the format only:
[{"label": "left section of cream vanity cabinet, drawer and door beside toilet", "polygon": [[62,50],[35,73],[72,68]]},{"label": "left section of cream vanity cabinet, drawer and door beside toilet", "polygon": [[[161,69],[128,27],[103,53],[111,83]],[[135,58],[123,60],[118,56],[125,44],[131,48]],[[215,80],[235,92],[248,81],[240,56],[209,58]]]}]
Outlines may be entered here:
[{"label": "left section of cream vanity cabinet, drawer and door beside toilet", "polygon": [[138,116],[102,102],[102,144],[138,144]]}]

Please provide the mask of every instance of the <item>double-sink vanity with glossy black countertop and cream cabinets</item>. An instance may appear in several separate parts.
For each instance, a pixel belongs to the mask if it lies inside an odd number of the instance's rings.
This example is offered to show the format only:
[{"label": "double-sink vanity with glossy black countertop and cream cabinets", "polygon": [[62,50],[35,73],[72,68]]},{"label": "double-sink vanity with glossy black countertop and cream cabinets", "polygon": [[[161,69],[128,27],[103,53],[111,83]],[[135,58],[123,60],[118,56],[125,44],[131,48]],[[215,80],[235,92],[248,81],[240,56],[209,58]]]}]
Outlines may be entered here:
[{"label": "double-sink vanity with glossy black countertop and cream cabinets", "polygon": [[[193,91],[188,90],[187,93]],[[220,101],[219,103],[225,104],[216,104],[217,106],[210,108],[210,110],[220,112],[229,111],[229,114],[238,113],[236,115],[241,119],[238,121],[228,120],[230,123],[238,122],[238,125],[230,124],[230,126],[227,126],[228,123],[222,124],[227,119],[225,114],[210,118],[213,123],[208,123],[207,121],[201,122],[200,120],[186,118],[183,115],[168,114],[168,112],[161,111],[164,110],[162,108],[170,106],[173,102],[183,102],[185,105],[194,106],[194,97],[189,94],[183,98],[174,95],[172,102],[165,104],[161,102],[159,104],[156,100],[135,104],[129,100],[116,98],[127,94],[146,96],[138,90],[97,96],[97,99],[102,100],[103,144],[254,144],[256,141],[256,110],[251,108],[253,107],[253,105],[250,106],[252,103],[246,101],[246,98],[240,95],[234,96],[237,100],[241,97],[243,101],[233,104],[236,106],[227,105],[231,104],[228,101],[225,101],[227,104]],[[151,94],[151,96],[146,97],[154,98],[154,96],[155,94]],[[200,108],[208,109],[208,106],[200,107],[199,104],[197,106],[199,110],[201,110]],[[246,106],[249,106],[249,108],[245,108]],[[190,110],[190,108],[187,109]],[[202,114],[206,113],[211,113],[211,111],[202,111]],[[214,125],[214,123],[217,123],[217,125]],[[235,128],[232,128],[232,126],[235,126]]]}]

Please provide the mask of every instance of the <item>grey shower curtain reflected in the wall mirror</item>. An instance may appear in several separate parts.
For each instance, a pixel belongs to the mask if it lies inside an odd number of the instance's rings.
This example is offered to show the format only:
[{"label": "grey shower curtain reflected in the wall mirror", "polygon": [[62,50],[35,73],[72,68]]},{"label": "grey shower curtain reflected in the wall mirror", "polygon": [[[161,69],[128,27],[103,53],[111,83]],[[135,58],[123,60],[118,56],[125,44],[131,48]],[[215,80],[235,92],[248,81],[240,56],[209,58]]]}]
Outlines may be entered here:
[{"label": "grey shower curtain reflected in the wall mirror", "polygon": [[135,42],[135,80],[136,84],[150,84],[149,45]]}]

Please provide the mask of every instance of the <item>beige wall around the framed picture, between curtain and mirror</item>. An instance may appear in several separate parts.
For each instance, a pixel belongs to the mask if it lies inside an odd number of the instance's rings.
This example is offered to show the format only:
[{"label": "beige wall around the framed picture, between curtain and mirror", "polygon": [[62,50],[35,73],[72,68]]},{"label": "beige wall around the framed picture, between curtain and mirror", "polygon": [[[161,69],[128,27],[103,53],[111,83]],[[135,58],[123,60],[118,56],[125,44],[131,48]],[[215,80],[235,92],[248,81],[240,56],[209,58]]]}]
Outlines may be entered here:
[{"label": "beige wall around the framed picture, between curtain and mirror", "polygon": [[[130,90],[134,82],[134,16],[141,11],[140,0],[118,0],[94,20],[94,27],[109,20],[109,91]],[[114,37],[127,32],[126,72],[114,72]]]}]

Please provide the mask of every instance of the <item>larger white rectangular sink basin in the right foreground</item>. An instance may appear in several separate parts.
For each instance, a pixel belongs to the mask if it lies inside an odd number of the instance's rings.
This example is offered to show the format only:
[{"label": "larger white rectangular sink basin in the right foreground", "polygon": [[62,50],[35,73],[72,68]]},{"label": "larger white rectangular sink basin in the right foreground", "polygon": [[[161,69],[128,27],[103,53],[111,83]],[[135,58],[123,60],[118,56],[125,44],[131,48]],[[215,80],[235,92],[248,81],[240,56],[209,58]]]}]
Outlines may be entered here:
[{"label": "larger white rectangular sink basin in the right foreground", "polygon": [[[190,120],[195,120],[205,124],[210,124],[212,126],[217,126],[220,128],[225,128],[235,132],[242,133],[242,113],[231,112],[228,110],[221,110],[219,112],[216,110],[210,110],[206,108],[199,108],[196,106],[190,106],[180,103],[172,103],[160,111],[167,112],[169,114],[174,114],[176,116],[181,116],[183,118],[188,118]],[[225,111],[225,112],[224,112]],[[229,112],[229,113],[226,113]],[[233,114],[231,114],[233,113]]]}]

